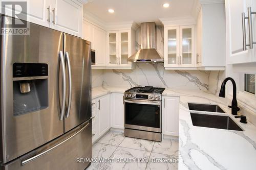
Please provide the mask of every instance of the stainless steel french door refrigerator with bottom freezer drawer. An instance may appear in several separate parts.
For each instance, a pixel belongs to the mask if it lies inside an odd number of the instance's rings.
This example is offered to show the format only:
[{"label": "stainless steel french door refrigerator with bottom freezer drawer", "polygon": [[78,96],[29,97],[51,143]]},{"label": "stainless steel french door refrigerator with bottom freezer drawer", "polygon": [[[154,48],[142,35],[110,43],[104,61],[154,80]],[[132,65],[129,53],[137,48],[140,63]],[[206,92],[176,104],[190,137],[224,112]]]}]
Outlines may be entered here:
[{"label": "stainless steel french door refrigerator with bottom freezer drawer", "polygon": [[[2,28],[12,18],[1,16]],[[1,35],[0,169],[84,169],[91,158],[91,42],[30,25]]]}]

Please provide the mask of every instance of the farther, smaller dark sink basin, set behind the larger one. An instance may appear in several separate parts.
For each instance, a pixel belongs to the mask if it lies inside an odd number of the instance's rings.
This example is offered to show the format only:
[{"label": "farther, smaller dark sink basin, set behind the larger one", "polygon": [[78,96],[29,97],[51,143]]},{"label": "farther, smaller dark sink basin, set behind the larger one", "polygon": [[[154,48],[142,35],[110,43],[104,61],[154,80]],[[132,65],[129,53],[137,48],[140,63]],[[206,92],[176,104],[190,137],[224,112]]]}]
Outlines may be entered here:
[{"label": "farther, smaller dark sink basin, set behind the larger one", "polygon": [[218,105],[188,103],[189,110],[225,113]]}]

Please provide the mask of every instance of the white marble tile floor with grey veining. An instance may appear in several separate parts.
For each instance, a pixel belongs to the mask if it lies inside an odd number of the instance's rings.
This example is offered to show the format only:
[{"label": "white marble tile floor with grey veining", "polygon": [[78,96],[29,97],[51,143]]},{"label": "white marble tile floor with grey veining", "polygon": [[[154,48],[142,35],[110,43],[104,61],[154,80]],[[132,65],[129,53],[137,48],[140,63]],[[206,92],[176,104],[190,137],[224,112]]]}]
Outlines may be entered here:
[{"label": "white marble tile floor with grey veining", "polygon": [[110,131],[93,145],[92,158],[97,161],[87,169],[178,169],[178,163],[172,163],[178,159],[178,147],[178,139],[157,142]]}]

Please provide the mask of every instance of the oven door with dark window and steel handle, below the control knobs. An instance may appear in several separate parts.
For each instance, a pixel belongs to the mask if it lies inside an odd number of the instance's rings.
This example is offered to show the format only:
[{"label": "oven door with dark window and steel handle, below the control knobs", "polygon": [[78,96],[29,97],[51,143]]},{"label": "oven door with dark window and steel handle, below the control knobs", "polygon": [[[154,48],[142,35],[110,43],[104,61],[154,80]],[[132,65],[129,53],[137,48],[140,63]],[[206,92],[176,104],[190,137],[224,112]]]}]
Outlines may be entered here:
[{"label": "oven door with dark window and steel handle, below the control knobs", "polygon": [[161,101],[124,100],[124,128],[162,132]]}]

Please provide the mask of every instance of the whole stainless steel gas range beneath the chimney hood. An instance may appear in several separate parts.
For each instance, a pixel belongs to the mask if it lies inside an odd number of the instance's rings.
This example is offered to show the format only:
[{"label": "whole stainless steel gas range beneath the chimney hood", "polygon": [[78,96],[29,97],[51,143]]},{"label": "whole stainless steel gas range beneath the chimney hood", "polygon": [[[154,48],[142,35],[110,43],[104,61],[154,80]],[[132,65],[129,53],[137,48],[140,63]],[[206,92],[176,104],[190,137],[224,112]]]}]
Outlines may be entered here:
[{"label": "whole stainless steel gas range beneath the chimney hood", "polygon": [[163,90],[146,86],[124,92],[124,136],[162,140]]}]

